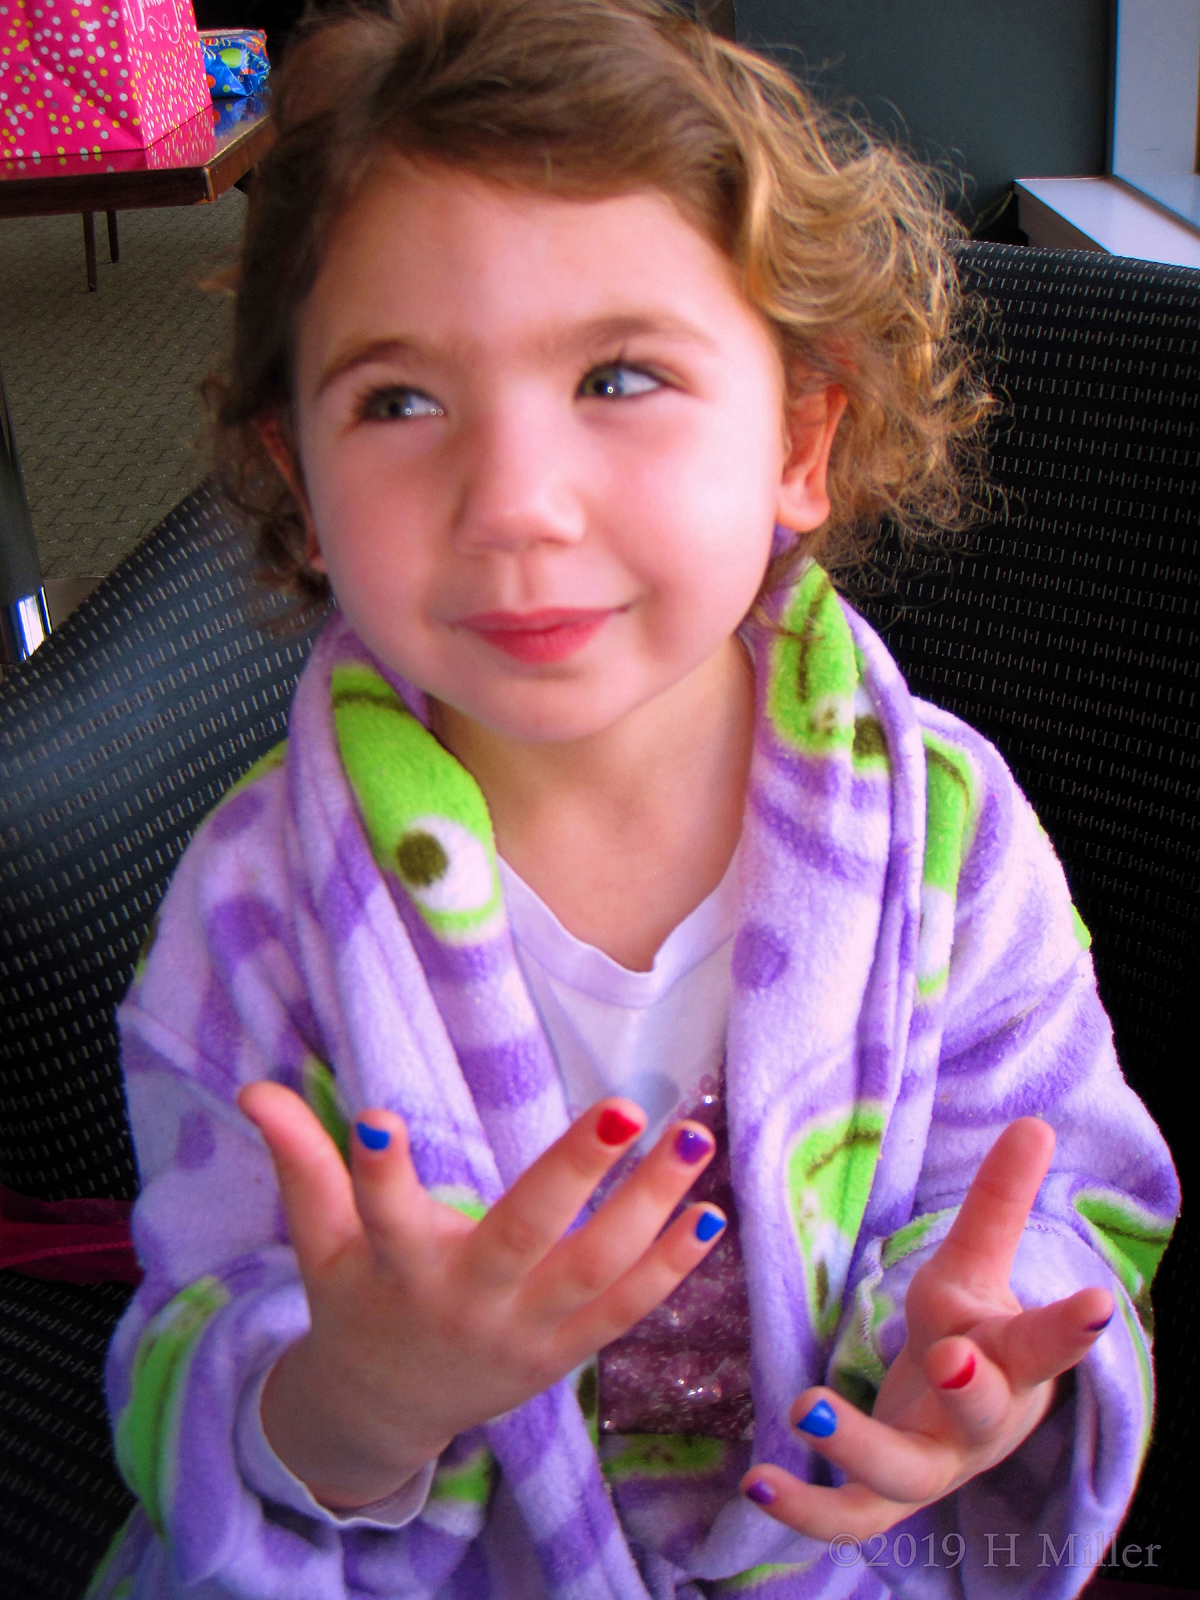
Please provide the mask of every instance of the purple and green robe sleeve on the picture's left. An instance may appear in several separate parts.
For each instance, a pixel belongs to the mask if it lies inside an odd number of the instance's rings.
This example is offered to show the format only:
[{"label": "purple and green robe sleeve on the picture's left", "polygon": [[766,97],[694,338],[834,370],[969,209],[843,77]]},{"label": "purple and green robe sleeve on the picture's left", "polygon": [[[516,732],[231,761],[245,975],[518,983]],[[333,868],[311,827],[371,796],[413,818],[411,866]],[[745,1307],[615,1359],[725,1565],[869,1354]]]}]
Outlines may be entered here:
[{"label": "purple and green robe sleeve on the picture's left", "polygon": [[458,1483],[453,1446],[427,1506],[429,1483],[416,1482],[403,1504],[338,1517],[275,1461],[261,1429],[256,1438],[261,1384],[309,1310],[270,1157],[235,1096],[275,1078],[342,1139],[349,1115],[333,986],[320,941],[306,936],[306,878],[290,854],[278,770],[202,827],[120,1011],[146,1277],[117,1328],[107,1390],[141,1510],[99,1597],[125,1578],[155,1597],[208,1581],[251,1600],[344,1600],[371,1582],[432,1595],[482,1525],[486,1472]]}]

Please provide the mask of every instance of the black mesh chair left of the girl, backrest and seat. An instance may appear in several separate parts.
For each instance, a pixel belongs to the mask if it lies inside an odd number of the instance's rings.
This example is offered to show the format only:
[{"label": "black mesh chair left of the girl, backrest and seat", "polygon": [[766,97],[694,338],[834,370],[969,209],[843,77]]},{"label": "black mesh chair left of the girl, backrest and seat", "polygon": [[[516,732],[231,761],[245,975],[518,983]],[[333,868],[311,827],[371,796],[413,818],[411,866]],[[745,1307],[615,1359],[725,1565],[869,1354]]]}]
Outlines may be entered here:
[{"label": "black mesh chair left of the girl, backrest and seat", "polygon": [[[286,733],[269,630],[200,488],[0,683],[0,1182],[133,1198],[114,1008],[190,834]],[[264,630],[267,629],[267,630]],[[131,1509],[101,1368],[130,1290],[0,1272],[0,1597],[78,1600]]]}]

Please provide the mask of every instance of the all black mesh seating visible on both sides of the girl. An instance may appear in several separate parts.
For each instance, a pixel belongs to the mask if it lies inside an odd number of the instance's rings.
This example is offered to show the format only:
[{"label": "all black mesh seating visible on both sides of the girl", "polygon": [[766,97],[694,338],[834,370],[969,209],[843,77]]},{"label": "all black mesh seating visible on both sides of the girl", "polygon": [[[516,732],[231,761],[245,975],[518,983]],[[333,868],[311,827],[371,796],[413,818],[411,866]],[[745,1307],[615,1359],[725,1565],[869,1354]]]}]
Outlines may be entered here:
[{"label": "all black mesh seating visible on both sides of the girl", "polygon": [[[1200,955],[1200,272],[966,246],[1010,405],[1002,520],[886,552],[856,598],[915,690],[1006,754],[1094,934],[1130,1078],[1176,1149]],[[283,733],[309,638],[262,632],[245,536],[206,490],[0,685],[0,1182],[136,1186],[112,1010],[190,830]],[[1189,1190],[1190,1192],[1190,1190]],[[1190,1213],[1155,1293],[1166,1397],[1125,1574],[1190,1587]],[[77,1600],[128,1509],[99,1368],[128,1290],[0,1274],[0,1595]]]}]

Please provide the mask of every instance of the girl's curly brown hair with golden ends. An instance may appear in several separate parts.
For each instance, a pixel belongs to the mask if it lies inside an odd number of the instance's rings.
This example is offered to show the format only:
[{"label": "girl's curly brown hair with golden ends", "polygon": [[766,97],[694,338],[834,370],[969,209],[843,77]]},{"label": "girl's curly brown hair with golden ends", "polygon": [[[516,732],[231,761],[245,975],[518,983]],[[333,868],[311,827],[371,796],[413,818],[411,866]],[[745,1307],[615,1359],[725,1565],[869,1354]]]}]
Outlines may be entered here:
[{"label": "girl's curly brown hair with golden ends", "polygon": [[274,85],[278,139],[226,280],[232,357],[206,386],[267,581],[328,595],[258,424],[291,437],[298,309],[389,152],[565,198],[666,194],[733,262],[792,394],[845,390],[830,517],[763,594],[803,554],[861,565],[886,522],[922,534],[971,518],[992,400],[958,331],[960,227],[934,174],[778,66],[664,0],[381,0],[310,19]]}]

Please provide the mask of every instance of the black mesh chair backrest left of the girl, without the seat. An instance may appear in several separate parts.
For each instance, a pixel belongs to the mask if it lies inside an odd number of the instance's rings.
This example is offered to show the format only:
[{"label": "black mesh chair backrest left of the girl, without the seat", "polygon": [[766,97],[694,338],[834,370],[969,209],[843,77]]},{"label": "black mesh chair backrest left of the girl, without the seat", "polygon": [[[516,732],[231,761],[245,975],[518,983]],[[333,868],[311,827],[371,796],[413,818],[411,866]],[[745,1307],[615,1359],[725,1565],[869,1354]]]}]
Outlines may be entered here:
[{"label": "black mesh chair backrest left of the girl, without the seat", "polygon": [[272,637],[202,486],[0,683],[0,1182],[131,1198],[114,1008],[190,834],[286,733],[312,634]]}]

